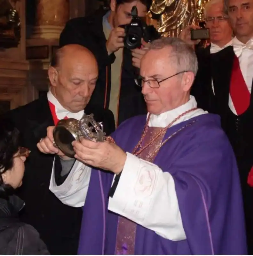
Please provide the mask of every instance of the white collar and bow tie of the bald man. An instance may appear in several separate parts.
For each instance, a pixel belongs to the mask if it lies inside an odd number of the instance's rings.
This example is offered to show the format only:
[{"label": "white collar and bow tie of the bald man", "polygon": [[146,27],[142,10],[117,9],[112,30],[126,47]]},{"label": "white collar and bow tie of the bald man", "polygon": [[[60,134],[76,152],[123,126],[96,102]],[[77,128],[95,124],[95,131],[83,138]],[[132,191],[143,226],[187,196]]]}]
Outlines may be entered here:
[{"label": "white collar and bow tie of the bald man", "polygon": [[84,110],[81,110],[77,113],[72,113],[66,108],[63,108],[50,90],[47,92],[47,99],[55,106],[55,113],[59,120],[65,118],[66,116],[68,118],[75,118],[77,120],[80,120],[84,114]]}]

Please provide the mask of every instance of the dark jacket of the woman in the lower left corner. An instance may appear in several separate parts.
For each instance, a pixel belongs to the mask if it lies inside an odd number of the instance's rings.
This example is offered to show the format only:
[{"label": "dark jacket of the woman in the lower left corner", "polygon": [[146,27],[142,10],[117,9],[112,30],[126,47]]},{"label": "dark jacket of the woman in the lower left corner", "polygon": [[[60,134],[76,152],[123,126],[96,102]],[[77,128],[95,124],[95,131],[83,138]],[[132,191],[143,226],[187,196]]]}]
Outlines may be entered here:
[{"label": "dark jacket of the woman in the lower left corner", "polygon": [[19,221],[18,212],[23,206],[17,196],[0,198],[0,254],[49,254],[36,229]]}]

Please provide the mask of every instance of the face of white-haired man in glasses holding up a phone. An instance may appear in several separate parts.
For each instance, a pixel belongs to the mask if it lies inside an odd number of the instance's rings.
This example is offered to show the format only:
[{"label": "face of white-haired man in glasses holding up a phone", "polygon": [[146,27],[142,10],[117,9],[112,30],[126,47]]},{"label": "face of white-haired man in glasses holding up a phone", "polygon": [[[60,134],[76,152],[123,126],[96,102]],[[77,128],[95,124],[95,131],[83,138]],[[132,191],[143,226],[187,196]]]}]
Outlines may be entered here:
[{"label": "face of white-haired man in glasses holding up a phone", "polygon": [[206,12],[206,27],[210,28],[210,41],[224,46],[231,40],[232,28],[223,12],[223,2],[213,4]]}]

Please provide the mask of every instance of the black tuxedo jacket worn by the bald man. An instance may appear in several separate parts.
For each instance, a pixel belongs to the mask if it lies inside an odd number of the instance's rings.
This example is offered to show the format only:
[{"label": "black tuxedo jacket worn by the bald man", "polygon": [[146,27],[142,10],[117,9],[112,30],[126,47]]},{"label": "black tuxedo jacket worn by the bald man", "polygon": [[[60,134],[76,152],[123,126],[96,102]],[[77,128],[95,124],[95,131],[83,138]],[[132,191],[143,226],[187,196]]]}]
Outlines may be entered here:
[{"label": "black tuxedo jacket worn by the bald man", "polygon": [[[115,130],[113,113],[103,108],[87,107],[86,114],[94,114],[103,122],[105,132]],[[38,151],[37,142],[46,136],[46,128],[54,125],[47,97],[11,110],[10,117],[22,136],[22,146],[31,150],[26,161],[23,185],[17,194],[26,202],[21,214],[24,222],[34,226],[51,254],[76,254],[81,227],[82,209],[62,204],[49,190],[53,155]]]}]

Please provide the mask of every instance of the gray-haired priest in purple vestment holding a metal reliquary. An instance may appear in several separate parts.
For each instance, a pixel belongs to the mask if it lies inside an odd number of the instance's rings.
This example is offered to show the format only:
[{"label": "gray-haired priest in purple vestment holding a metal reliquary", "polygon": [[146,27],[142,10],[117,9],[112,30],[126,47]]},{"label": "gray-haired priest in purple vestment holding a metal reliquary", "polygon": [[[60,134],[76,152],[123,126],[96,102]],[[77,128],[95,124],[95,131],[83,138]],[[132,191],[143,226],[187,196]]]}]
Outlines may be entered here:
[{"label": "gray-haired priest in purple vestment holding a metal reliquary", "polygon": [[[83,206],[79,254],[247,254],[233,150],[219,116],[189,93],[197,66],[180,39],[152,42],[136,81],[147,116],[121,124],[115,143],[73,142],[76,160],[61,156],[62,171],[73,161],[62,184],[53,168],[50,190]],[[62,153],[52,129],[38,148]]]}]

